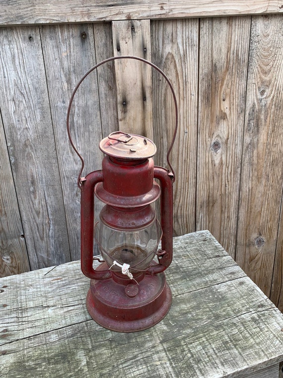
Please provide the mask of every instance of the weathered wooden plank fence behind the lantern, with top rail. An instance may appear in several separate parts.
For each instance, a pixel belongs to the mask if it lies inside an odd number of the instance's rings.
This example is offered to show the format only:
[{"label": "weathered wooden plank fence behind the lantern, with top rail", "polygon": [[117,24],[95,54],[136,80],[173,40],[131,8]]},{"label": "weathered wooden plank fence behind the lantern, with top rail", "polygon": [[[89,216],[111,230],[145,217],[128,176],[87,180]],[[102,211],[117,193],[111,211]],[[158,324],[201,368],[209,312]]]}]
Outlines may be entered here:
[{"label": "weathered wooden plank fence behind the lantern, with top rail", "polygon": [[[282,12],[260,0],[0,0],[0,275],[79,258],[71,92],[101,60],[138,55],[164,70],[179,103],[175,235],[209,229],[283,309]],[[149,66],[99,67],[71,112],[84,174],[119,128],[153,138],[164,166],[173,120],[170,90]]]}]

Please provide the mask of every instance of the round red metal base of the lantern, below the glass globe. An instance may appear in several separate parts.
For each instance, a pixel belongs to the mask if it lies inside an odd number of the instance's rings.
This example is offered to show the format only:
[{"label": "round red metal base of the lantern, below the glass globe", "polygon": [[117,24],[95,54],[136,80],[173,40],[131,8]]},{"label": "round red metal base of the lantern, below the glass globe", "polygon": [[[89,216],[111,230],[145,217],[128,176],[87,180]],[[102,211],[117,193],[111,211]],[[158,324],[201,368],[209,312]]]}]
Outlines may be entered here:
[{"label": "round red metal base of the lantern, below the glass globe", "polygon": [[[105,263],[98,270],[106,270]],[[98,324],[117,332],[135,332],[158,323],[169,311],[172,294],[165,274],[144,275],[122,285],[112,278],[91,280],[86,297],[90,316]]]}]

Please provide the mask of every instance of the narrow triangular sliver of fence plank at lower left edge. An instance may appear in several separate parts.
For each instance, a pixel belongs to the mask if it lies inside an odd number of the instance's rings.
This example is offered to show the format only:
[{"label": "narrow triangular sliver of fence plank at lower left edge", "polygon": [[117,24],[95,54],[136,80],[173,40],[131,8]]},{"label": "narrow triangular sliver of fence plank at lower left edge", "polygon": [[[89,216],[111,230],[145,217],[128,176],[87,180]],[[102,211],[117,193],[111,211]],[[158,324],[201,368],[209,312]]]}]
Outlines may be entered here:
[{"label": "narrow triangular sliver of fence plank at lower left edge", "polygon": [[5,277],[30,268],[1,117],[0,171],[0,277]]}]

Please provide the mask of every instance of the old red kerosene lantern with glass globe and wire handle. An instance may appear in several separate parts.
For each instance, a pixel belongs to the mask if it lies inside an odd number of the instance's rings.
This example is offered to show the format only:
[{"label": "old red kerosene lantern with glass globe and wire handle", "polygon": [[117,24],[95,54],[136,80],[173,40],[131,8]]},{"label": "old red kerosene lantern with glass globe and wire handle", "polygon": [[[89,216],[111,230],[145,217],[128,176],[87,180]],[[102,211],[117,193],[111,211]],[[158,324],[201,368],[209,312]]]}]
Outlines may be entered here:
[{"label": "old red kerosene lantern with glass globe and wire handle", "polygon": [[[82,80],[99,65],[115,59],[136,59],[159,71],[166,79],[175,103],[175,132],[167,153],[172,172],[154,166],[155,144],[146,137],[112,132],[99,143],[105,154],[102,170],[80,178],[83,159],[70,134],[71,103]],[[160,321],[169,311],[171,290],[164,270],[172,261],[174,172],[169,161],[177,131],[177,102],[172,85],[157,66],[139,57],[112,57],[92,67],[74,89],[67,115],[71,145],[81,159],[81,270],[91,279],[86,306],[102,326],[134,332]],[[159,180],[160,186],[155,182]],[[161,188],[160,188],[161,187]],[[104,207],[94,227],[94,194]],[[161,225],[152,203],[161,196]],[[95,228],[95,236],[94,236]],[[93,268],[93,241],[102,262]],[[161,241],[161,250],[158,250]],[[154,257],[157,256],[157,261]],[[98,258],[96,258],[98,259]]]}]

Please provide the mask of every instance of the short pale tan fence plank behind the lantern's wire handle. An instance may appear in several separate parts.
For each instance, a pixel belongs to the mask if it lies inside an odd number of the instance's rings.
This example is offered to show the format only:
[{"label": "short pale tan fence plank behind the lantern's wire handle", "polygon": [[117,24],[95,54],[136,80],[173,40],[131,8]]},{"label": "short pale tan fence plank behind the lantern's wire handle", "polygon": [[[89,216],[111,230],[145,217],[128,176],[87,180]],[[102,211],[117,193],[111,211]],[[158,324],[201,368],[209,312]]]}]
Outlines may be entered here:
[{"label": "short pale tan fence plank behind the lantern's wire handle", "polygon": [[[114,55],[151,60],[149,20],[113,21]],[[119,129],[153,139],[151,67],[132,59],[115,61]]]}]

